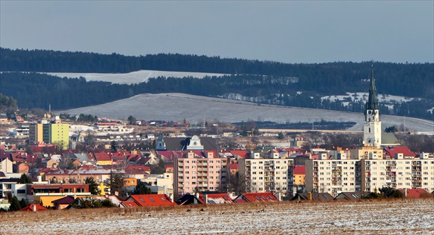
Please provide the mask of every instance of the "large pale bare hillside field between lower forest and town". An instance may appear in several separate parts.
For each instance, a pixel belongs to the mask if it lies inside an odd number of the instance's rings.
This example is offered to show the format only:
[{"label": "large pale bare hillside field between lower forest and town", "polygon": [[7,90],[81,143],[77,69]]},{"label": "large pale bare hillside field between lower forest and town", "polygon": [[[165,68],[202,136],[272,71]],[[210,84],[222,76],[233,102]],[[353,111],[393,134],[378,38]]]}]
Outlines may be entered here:
[{"label": "large pale bare hillside field between lower forest and town", "polygon": [[[210,121],[240,122],[240,121],[274,121],[277,123],[296,123],[314,121],[354,121],[357,123],[349,128],[361,131],[364,116],[362,113],[340,112],[333,110],[317,110],[309,108],[293,108],[277,105],[258,105],[244,101],[218,99],[189,94],[140,94],[129,99],[122,99],[102,105],[94,105],[72,110],[61,111],[79,115],[92,114],[110,119],[126,120],[132,115],[142,120],[180,121],[186,119],[192,123]],[[402,116],[382,115],[382,126],[389,127],[405,124],[406,130],[434,133],[434,122],[424,119],[414,119]]]}]

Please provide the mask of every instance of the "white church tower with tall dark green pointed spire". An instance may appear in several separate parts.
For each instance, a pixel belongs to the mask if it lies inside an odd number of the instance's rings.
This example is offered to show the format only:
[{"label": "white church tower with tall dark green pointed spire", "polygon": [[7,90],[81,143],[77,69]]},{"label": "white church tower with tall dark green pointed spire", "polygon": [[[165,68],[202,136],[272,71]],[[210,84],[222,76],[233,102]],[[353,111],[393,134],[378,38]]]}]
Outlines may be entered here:
[{"label": "white church tower with tall dark green pointed spire", "polygon": [[378,108],[377,89],[371,68],[371,85],[369,87],[369,98],[364,110],[363,143],[380,147],[381,145],[381,116]]}]

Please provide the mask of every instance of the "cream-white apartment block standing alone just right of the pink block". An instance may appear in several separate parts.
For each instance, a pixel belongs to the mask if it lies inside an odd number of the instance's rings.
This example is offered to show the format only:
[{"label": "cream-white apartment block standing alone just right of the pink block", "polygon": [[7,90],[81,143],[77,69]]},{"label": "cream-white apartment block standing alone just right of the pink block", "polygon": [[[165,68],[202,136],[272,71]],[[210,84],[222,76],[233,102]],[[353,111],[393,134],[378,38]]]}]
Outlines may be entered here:
[{"label": "cream-white apartment block standing alone just right of the pink block", "polygon": [[292,159],[278,159],[278,154],[271,154],[272,159],[260,159],[253,154],[253,159],[239,159],[238,172],[245,175],[246,192],[281,192],[288,190],[288,166]]}]

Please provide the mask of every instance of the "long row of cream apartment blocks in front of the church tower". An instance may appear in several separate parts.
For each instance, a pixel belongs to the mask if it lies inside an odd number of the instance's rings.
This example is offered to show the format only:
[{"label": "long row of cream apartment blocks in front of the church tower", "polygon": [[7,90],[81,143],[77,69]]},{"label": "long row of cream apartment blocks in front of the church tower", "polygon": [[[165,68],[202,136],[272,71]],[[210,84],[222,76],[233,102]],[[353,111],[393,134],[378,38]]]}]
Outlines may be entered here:
[{"label": "long row of cream apartment blocks in front of the church tower", "polygon": [[434,191],[434,156],[404,159],[309,159],[306,161],[307,192],[374,192],[382,187],[422,188]]}]

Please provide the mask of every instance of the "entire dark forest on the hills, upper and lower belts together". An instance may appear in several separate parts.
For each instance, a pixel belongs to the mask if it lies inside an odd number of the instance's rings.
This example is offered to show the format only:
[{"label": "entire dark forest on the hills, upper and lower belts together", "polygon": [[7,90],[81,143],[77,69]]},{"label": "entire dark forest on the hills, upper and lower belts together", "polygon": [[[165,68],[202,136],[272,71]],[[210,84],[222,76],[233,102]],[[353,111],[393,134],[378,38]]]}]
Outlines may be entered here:
[{"label": "entire dark forest on the hills, upper and lower belts together", "polygon": [[[231,98],[240,94],[247,101],[349,112],[362,112],[364,101],[331,101],[322,96],[345,92],[367,92],[372,62],[287,64],[272,61],[222,59],[183,54],[155,54],[125,57],[120,54],[54,52],[50,50],[10,50],[0,48],[1,92],[16,99],[22,108],[55,110],[79,108],[126,99],[136,94],[181,92],[200,96]],[[432,63],[373,63],[378,92],[420,97],[395,103],[389,109],[380,104],[382,114],[413,116],[433,120],[434,66]],[[146,83],[119,85],[67,79],[43,72],[131,72],[135,70],[219,72],[220,77],[158,77]],[[300,94],[300,91],[302,93]]]}]

